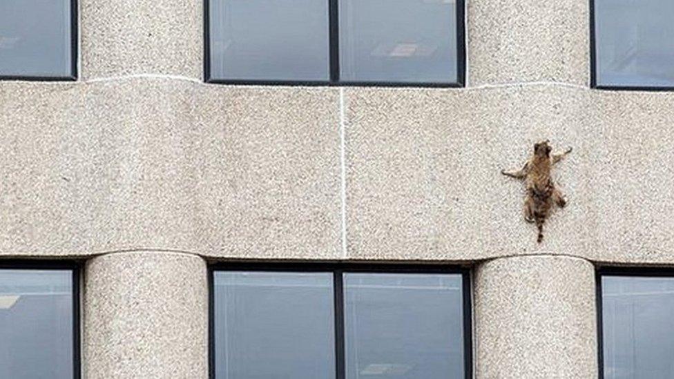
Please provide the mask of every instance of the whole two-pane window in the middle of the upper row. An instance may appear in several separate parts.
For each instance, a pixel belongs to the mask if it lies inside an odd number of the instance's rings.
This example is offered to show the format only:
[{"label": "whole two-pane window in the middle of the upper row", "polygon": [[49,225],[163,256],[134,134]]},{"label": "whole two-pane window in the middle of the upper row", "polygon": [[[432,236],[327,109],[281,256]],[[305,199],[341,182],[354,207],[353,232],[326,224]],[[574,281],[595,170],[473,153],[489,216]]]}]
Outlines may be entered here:
[{"label": "whole two-pane window in the middle of the upper row", "polygon": [[206,81],[463,85],[463,0],[205,4]]}]

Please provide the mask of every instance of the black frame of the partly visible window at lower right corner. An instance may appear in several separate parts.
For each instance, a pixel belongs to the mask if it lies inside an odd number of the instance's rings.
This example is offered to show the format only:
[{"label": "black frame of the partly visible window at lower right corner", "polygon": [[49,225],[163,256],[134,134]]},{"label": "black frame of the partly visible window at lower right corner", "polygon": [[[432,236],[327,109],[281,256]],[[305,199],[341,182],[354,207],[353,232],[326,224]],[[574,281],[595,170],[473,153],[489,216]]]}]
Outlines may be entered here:
[{"label": "black frame of the partly visible window at lower right corner", "polygon": [[599,363],[599,379],[604,378],[604,309],[601,289],[601,278],[604,276],[625,276],[642,278],[673,278],[674,267],[649,266],[601,266],[595,271],[595,288],[597,301],[597,362]]}]

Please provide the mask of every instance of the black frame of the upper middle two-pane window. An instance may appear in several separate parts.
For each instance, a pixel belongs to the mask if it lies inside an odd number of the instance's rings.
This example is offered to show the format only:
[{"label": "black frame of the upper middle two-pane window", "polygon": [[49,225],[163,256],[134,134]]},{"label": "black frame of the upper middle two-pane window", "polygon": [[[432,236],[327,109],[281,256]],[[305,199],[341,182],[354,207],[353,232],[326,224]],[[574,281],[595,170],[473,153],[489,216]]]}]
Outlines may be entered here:
[{"label": "black frame of the upper middle two-pane window", "polygon": [[204,81],[211,84],[251,86],[361,86],[361,87],[439,87],[465,86],[465,0],[456,0],[456,81],[452,83],[407,81],[340,81],[339,69],[339,0],[328,1],[329,74],[327,81],[266,79],[213,79],[211,77],[211,0],[204,0]]}]

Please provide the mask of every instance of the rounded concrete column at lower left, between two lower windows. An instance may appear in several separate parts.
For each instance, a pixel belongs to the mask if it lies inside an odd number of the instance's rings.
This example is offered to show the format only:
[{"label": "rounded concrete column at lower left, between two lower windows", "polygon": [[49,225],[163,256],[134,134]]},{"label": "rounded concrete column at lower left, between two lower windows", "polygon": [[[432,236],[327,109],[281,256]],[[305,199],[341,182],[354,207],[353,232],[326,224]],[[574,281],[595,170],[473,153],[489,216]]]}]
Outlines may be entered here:
[{"label": "rounded concrete column at lower left, between two lower windows", "polygon": [[207,378],[206,262],[113,253],[86,264],[85,378]]}]

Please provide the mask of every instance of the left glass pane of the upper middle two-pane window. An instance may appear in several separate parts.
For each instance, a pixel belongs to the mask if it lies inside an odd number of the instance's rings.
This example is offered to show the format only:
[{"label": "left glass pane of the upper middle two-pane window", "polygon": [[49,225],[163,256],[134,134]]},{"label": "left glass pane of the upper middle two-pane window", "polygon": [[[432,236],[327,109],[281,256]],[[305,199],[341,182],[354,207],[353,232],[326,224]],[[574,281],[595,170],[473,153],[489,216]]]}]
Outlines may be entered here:
[{"label": "left glass pane of the upper middle two-pane window", "polygon": [[211,79],[327,81],[327,0],[209,0]]}]

